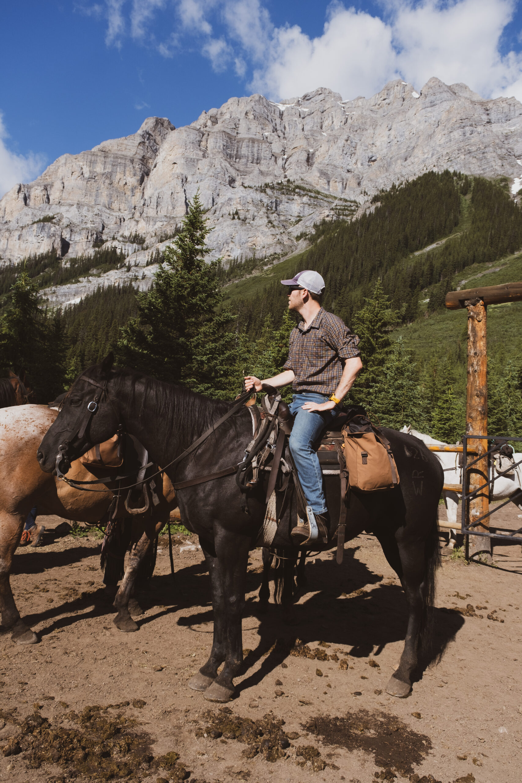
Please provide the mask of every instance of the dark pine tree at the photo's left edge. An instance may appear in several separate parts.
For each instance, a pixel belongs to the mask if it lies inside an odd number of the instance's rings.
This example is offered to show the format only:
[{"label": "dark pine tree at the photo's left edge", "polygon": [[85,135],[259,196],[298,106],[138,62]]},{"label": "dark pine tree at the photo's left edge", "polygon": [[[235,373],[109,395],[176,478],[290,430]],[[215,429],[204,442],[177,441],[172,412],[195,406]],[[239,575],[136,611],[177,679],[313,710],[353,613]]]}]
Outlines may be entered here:
[{"label": "dark pine tree at the photo's left edge", "polygon": [[63,391],[66,347],[59,316],[41,309],[37,284],[20,272],[0,318],[0,367],[26,375],[38,402],[49,402]]}]

